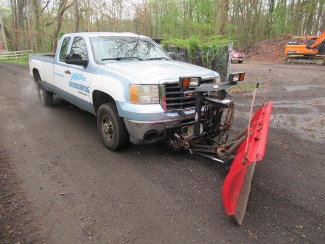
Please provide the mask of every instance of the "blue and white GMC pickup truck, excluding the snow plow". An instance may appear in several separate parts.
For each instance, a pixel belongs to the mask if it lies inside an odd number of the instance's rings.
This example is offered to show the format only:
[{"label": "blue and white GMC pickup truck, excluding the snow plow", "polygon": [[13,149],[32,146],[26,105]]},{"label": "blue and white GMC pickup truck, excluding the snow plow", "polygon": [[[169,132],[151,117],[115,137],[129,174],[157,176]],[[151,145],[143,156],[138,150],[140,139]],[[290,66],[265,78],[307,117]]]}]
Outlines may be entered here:
[{"label": "blue and white GMC pickup truck, excluding the snow plow", "polygon": [[132,33],[64,35],[55,55],[30,54],[29,70],[44,106],[58,95],[93,113],[111,150],[129,141],[164,140],[193,124],[194,94],[182,92],[179,77],[220,82],[218,73],[177,62],[150,38]]}]

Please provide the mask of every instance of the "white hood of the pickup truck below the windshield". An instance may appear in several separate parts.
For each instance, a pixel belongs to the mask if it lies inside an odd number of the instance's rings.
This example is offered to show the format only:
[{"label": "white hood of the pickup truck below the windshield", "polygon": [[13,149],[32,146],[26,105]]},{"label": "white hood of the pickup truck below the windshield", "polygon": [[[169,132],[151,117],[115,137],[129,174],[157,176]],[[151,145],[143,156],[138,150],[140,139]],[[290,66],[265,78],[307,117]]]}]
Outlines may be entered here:
[{"label": "white hood of the pickup truck below the windshield", "polygon": [[105,67],[132,76],[141,84],[158,84],[161,80],[178,80],[180,76],[219,77],[212,70],[174,60],[114,62],[106,64]]}]

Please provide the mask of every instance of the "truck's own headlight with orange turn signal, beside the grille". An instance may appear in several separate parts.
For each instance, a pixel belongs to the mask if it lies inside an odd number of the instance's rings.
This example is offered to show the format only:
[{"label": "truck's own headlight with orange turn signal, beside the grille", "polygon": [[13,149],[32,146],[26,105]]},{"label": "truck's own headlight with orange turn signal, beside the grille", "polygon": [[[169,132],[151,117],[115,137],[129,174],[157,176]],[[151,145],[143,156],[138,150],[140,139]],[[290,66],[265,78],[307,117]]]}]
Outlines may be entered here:
[{"label": "truck's own headlight with orange turn signal, beside the grille", "polygon": [[129,90],[132,103],[159,103],[158,85],[130,85]]}]

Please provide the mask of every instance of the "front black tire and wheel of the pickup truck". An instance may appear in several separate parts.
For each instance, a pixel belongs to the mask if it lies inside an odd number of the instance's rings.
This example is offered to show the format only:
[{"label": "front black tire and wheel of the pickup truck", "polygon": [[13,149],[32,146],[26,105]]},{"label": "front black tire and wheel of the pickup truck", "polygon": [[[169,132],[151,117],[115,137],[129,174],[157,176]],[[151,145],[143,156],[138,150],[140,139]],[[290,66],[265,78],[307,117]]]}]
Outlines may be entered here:
[{"label": "front black tire and wheel of the pickup truck", "polygon": [[129,134],[123,118],[118,116],[113,103],[105,103],[98,109],[97,128],[108,149],[115,151],[129,144]]}]

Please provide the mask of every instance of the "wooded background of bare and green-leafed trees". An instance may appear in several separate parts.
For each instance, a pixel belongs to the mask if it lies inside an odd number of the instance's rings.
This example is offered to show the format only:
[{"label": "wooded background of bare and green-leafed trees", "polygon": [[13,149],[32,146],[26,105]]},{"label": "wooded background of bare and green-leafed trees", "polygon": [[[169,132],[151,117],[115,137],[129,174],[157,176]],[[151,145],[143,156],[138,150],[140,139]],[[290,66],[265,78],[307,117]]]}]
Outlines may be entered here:
[{"label": "wooded background of bare and green-leafed trees", "polygon": [[234,42],[238,48],[325,31],[325,0],[0,0],[0,13],[10,50],[43,53],[55,52],[60,37],[74,32],[132,32],[179,46]]}]

